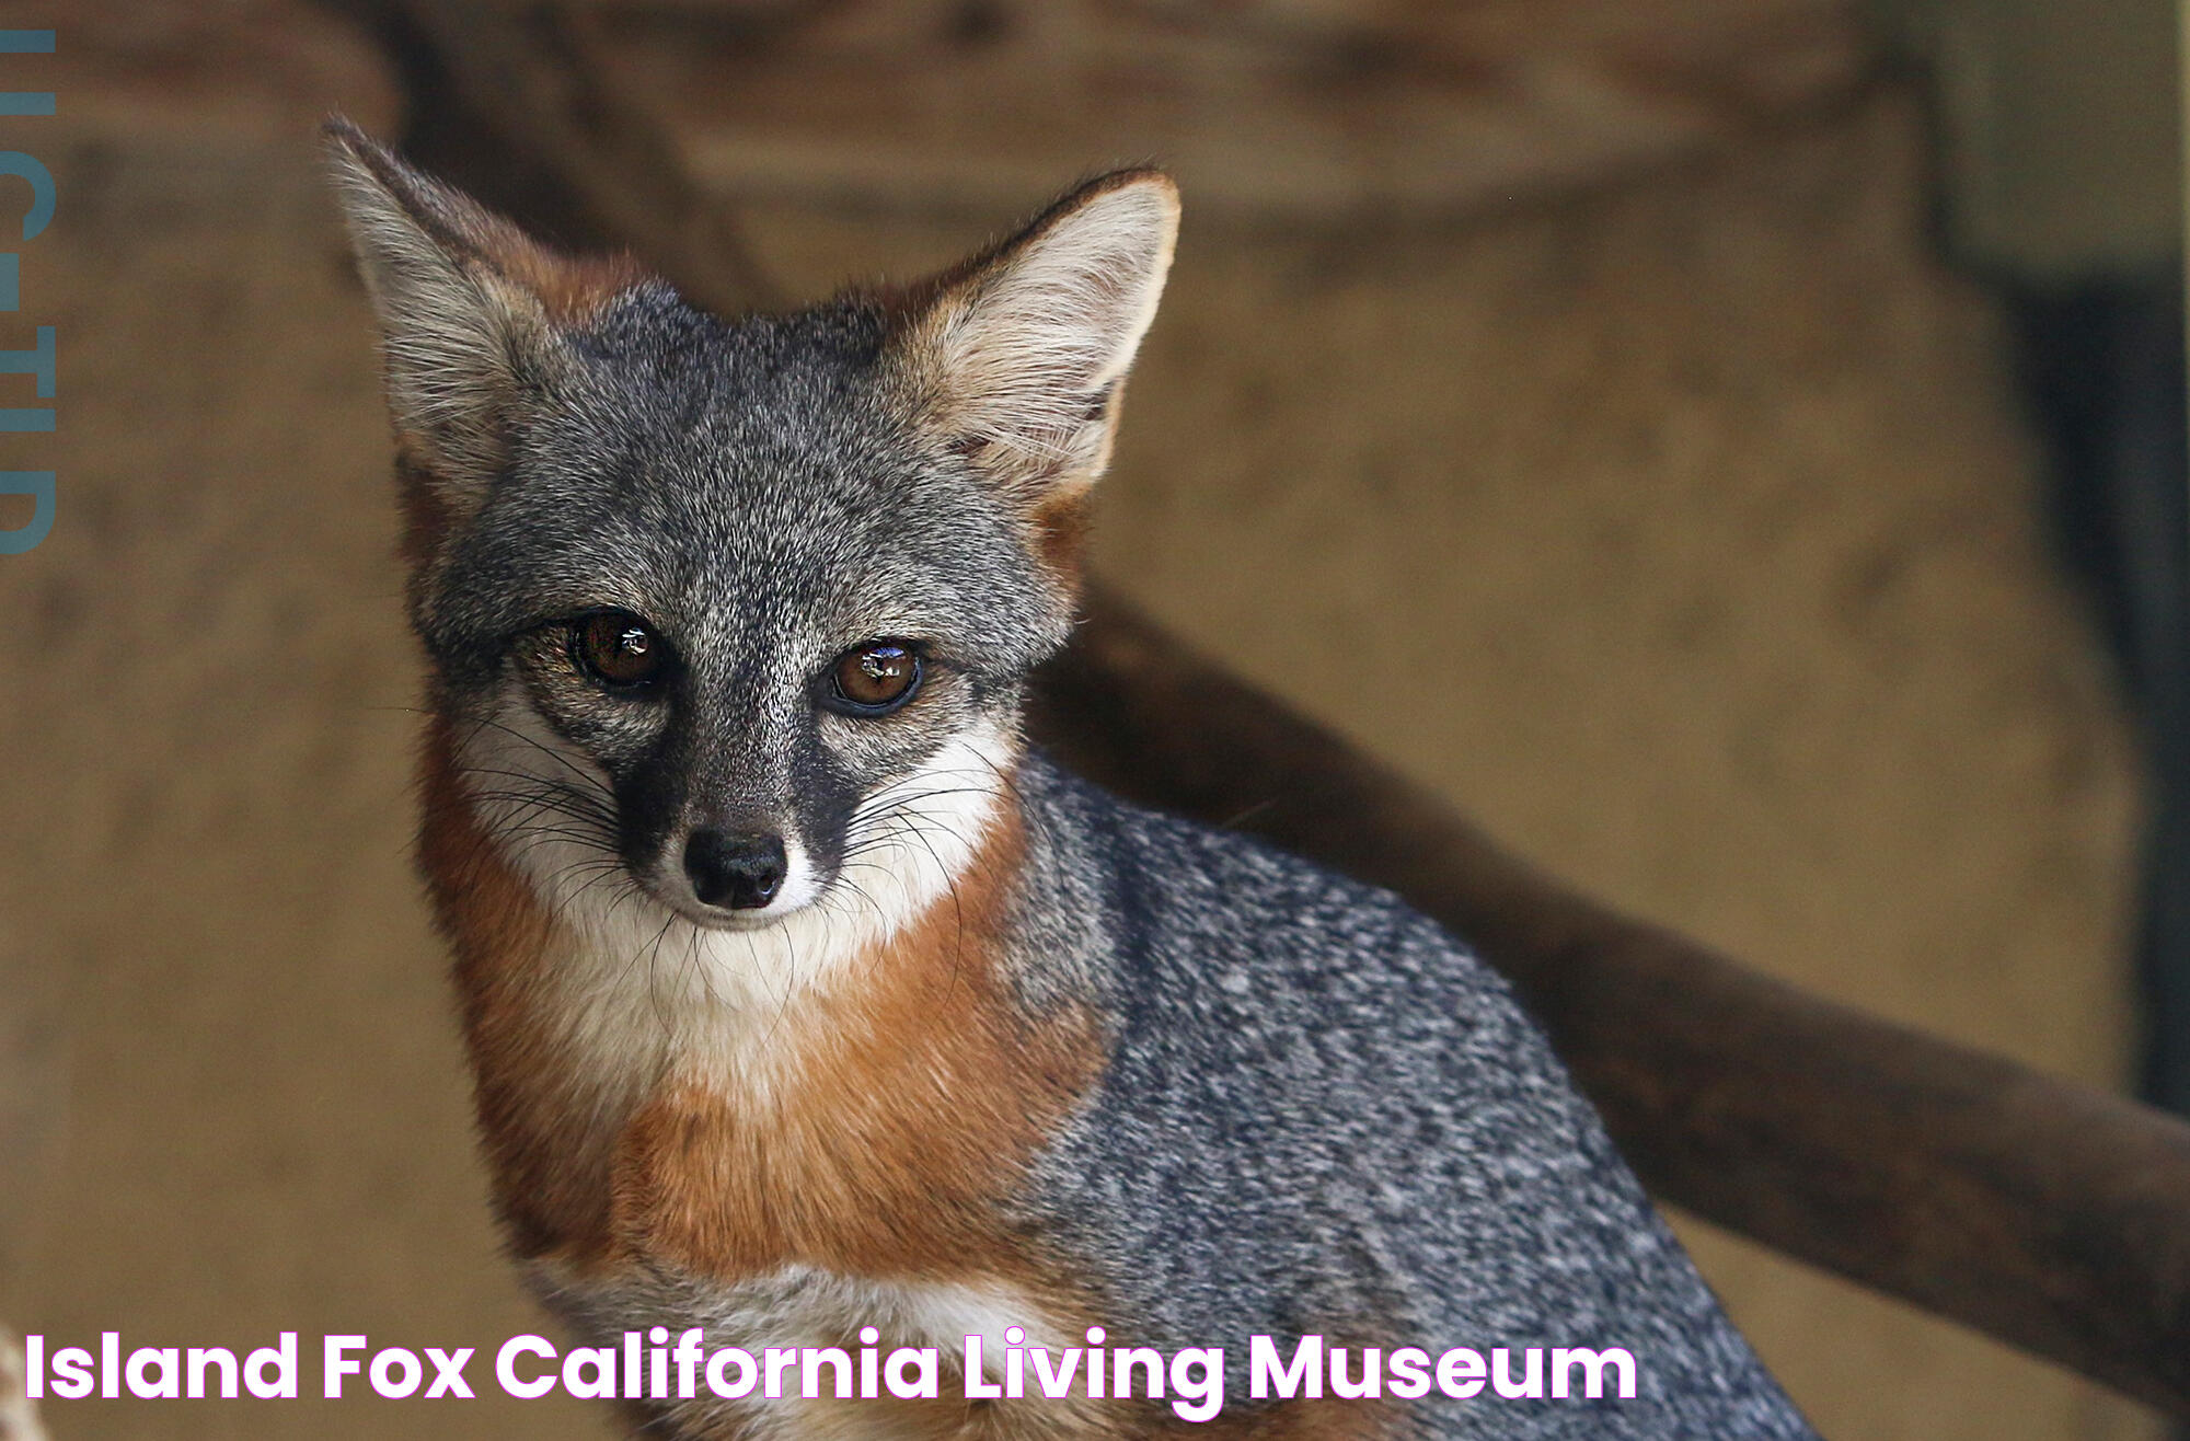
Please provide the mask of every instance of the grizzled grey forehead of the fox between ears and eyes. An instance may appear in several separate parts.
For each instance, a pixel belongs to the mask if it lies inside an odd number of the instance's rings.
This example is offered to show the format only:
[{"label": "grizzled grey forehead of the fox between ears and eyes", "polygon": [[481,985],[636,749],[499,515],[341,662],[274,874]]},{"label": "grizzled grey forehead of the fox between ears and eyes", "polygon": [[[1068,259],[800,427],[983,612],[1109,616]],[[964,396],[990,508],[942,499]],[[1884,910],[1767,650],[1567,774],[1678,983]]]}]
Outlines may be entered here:
[{"label": "grizzled grey forehead of the fox between ears and eyes", "polygon": [[1056,598],[1012,508],[922,431],[883,324],[856,300],[747,322],[661,289],[602,307],[530,388],[429,618],[464,622],[438,626],[451,644],[493,644],[613,604],[777,644],[902,633],[1029,664]]}]

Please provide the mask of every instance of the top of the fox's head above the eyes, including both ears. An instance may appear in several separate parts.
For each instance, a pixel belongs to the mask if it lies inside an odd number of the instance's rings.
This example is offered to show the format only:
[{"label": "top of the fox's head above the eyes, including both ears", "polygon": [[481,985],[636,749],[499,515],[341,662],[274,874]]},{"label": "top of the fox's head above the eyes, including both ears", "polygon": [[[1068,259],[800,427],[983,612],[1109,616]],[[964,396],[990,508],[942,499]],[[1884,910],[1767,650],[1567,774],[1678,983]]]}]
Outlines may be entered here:
[{"label": "top of the fox's head above the eyes, including both ears", "polygon": [[1082,502],[1178,234],[1165,175],[1093,180],[909,287],[723,322],[637,265],[556,256],[355,127],[328,149],[442,679],[615,602],[808,631],[926,615],[996,670],[1064,644]]}]

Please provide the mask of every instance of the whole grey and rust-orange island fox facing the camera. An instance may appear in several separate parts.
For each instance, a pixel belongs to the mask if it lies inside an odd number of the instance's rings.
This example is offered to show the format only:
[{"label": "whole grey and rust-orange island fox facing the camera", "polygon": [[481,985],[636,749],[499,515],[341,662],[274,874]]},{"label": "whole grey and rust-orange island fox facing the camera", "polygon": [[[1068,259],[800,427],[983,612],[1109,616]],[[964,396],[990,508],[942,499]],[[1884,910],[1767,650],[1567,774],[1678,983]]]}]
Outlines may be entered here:
[{"label": "whole grey and rust-orange island fox facing the camera", "polygon": [[[1165,175],[731,320],[328,134],[429,659],[420,867],[545,1305],[600,1347],[1222,1349],[1200,1428],[1145,1364],[1130,1399],[959,1364],[646,1434],[1811,1434],[1459,942],[1023,742]],[[1257,1399],[1255,1336],[1391,1384]],[[1500,1347],[1625,1349],[1634,1395],[1421,1384]]]}]

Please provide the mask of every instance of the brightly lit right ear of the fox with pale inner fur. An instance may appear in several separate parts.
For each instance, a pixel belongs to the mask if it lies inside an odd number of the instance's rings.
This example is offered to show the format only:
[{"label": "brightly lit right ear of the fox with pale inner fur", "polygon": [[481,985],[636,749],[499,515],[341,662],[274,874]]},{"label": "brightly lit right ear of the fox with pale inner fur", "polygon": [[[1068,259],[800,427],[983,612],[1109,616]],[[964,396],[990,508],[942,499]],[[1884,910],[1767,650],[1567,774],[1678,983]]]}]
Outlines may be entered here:
[{"label": "brightly lit right ear of the fox with pale inner fur", "polygon": [[1119,171],[933,280],[904,339],[926,423],[1029,506],[1086,488],[1176,239],[1169,175]]}]

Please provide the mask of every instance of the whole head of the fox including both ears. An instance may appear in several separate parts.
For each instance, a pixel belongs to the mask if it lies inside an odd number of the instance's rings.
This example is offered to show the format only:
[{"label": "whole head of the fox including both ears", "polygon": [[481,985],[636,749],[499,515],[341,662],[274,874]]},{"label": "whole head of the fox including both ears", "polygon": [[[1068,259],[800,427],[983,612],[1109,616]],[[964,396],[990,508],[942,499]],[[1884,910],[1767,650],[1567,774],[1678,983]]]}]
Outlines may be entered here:
[{"label": "whole head of the fox including both ears", "polygon": [[725,320],[346,125],[331,149],[431,703],[510,858],[729,933],[946,885],[1071,626],[1172,182],[1106,175],[926,283]]}]

